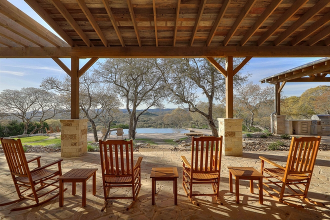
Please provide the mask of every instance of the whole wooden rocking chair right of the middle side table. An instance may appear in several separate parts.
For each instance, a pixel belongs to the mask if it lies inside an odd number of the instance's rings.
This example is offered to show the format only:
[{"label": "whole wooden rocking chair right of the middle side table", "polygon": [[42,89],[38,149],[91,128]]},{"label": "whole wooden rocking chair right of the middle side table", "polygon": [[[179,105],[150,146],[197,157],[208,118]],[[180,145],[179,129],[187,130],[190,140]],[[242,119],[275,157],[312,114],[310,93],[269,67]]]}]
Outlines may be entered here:
[{"label": "whole wooden rocking chair right of the middle side table", "polygon": [[[182,185],[190,201],[199,206],[192,196],[215,195],[219,200],[219,181],[221,167],[222,136],[192,137],[191,165],[181,156],[183,162]],[[212,184],[213,193],[193,193],[193,184]]]}]

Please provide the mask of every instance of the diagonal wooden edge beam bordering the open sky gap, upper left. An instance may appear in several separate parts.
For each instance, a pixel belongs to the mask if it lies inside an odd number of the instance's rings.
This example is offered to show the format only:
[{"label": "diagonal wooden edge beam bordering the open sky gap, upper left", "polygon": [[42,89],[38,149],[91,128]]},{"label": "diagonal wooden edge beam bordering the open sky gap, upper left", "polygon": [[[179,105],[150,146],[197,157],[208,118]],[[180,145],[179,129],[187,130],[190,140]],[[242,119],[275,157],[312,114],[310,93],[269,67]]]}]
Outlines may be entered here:
[{"label": "diagonal wooden edge beam bordering the open sky gap, upper left", "polygon": [[70,46],[75,46],[73,40],[65,31],[50,17],[50,15],[35,1],[24,0],[46,23],[51,26]]}]

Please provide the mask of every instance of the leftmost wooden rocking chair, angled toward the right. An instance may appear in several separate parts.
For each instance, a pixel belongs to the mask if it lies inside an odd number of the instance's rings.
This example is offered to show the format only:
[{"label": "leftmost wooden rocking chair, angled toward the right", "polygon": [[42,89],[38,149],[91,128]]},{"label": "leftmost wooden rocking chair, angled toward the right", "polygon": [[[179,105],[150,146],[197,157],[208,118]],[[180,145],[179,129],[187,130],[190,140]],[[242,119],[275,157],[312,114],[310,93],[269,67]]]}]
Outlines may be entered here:
[{"label": "leftmost wooden rocking chair, angled toward the right", "polygon": [[[14,140],[0,138],[0,140],[5,158],[9,166],[12,180],[14,182],[14,186],[19,197],[16,200],[2,203],[0,204],[0,206],[16,203],[25,198],[35,201],[35,204],[24,207],[17,207],[10,210],[18,211],[44,204],[59,195],[59,193],[57,193],[50,198],[39,202],[40,197],[45,196],[59,188],[59,186],[56,185],[56,183],[58,182],[56,178],[62,174],[60,166],[60,162],[62,161],[62,159],[58,159],[52,163],[40,166],[41,156],[26,160],[20,139]],[[28,167],[28,163],[34,160],[36,160],[38,167],[30,170]],[[57,164],[57,170],[51,170],[47,168],[54,164]],[[47,188],[47,190],[43,190],[45,188]],[[38,192],[40,193],[38,194]]]}]

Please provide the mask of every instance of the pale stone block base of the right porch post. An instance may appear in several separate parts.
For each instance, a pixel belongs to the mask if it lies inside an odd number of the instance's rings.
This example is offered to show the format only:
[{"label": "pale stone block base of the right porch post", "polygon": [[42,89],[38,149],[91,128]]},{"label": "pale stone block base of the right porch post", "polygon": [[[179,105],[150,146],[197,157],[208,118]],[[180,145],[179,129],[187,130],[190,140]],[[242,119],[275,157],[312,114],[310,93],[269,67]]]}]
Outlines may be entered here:
[{"label": "pale stone block base of the right porch post", "polygon": [[217,118],[219,135],[222,139],[222,154],[225,156],[243,155],[242,122],[239,118]]}]

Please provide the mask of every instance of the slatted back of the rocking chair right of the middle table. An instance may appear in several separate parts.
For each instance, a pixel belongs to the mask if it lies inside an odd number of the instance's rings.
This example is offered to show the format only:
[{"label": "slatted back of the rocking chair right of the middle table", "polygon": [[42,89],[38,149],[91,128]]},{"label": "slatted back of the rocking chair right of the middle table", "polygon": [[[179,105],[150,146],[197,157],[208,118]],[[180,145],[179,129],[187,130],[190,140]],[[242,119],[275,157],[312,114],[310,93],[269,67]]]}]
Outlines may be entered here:
[{"label": "slatted back of the rocking chair right of the middle table", "polygon": [[[221,137],[192,137],[191,172],[219,173],[222,150]],[[213,161],[214,159],[214,161]]]}]

